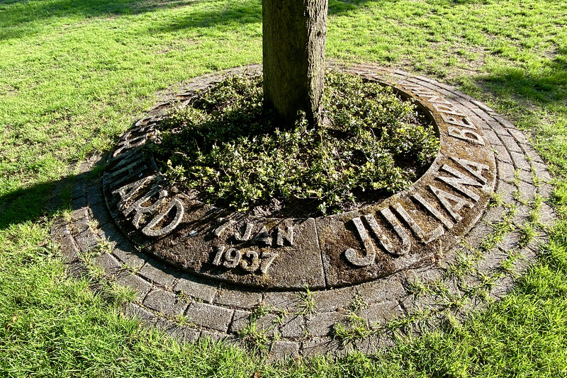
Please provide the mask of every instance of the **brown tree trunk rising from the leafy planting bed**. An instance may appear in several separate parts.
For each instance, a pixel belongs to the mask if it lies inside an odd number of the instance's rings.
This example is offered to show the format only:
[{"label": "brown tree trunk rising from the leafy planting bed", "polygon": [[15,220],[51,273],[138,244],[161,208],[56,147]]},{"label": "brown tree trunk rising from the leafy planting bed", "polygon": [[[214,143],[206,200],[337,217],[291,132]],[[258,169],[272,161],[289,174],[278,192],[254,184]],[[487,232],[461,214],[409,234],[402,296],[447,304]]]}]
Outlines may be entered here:
[{"label": "brown tree trunk rising from the leafy planting bed", "polygon": [[262,0],[264,108],[291,130],[299,112],[321,122],[327,0]]}]

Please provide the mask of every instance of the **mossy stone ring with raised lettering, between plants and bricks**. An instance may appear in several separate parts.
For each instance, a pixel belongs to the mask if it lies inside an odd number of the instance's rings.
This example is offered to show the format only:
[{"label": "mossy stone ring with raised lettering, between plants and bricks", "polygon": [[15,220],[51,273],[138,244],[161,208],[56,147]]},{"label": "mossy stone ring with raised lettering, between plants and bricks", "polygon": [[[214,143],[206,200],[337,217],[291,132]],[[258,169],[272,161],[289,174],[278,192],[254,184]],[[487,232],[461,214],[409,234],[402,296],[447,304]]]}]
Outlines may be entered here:
[{"label": "mossy stone ring with raised lettering, between plants and bricks", "polygon": [[[414,98],[437,127],[437,159],[408,190],[359,210],[305,219],[245,216],[191,200],[176,188],[168,193],[171,185],[142,150],[159,130],[163,104],[136,122],[108,159],[103,194],[118,227],[177,268],[282,290],[354,285],[427,265],[439,250],[452,248],[481,216],[495,185],[494,154],[481,129],[488,124],[473,120],[466,102],[411,79],[342,69]],[[245,70],[257,74],[259,68]],[[179,105],[222,75],[190,82]]]}]

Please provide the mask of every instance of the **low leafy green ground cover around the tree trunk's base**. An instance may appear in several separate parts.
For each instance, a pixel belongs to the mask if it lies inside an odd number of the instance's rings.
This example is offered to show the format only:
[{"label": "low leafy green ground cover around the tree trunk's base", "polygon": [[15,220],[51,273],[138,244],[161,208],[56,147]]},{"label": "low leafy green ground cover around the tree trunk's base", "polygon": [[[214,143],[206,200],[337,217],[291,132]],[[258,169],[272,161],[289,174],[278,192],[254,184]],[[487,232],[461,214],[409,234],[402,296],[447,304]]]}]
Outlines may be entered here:
[{"label": "low leafy green ground cover around the tree trunk's base", "polygon": [[[326,125],[291,131],[264,114],[262,78],[231,76],[162,122],[152,149],[172,183],[208,203],[269,216],[350,210],[408,188],[439,149],[412,101],[352,74],[327,74]],[[266,212],[264,211],[264,214]]]}]

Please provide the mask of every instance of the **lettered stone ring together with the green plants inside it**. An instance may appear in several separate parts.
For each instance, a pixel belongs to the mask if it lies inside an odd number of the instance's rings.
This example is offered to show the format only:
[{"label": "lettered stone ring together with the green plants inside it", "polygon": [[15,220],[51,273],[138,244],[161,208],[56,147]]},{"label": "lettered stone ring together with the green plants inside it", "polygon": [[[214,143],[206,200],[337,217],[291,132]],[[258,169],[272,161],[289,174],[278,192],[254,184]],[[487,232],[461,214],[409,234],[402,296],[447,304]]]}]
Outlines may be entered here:
[{"label": "lettered stone ring together with the green plants inside it", "polygon": [[[181,110],[138,121],[111,154],[108,210],[144,251],[253,287],[353,285],[434,262],[488,205],[494,153],[481,127],[437,93],[332,74],[347,94],[327,93],[330,125],[274,132],[254,76],[198,81]],[[375,103],[353,101],[367,93]],[[349,211],[317,216],[328,207]]]}]

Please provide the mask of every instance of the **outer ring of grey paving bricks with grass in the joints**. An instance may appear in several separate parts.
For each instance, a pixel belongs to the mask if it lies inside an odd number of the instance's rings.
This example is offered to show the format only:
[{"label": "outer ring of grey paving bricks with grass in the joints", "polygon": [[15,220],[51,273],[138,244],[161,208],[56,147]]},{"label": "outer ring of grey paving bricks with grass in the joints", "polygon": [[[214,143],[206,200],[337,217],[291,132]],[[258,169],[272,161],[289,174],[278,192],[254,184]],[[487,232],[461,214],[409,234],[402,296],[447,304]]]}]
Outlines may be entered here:
[{"label": "outer ring of grey paving bricks with grass in the joints", "polygon": [[[118,231],[104,204],[102,179],[91,174],[104,166],[106,156],[92,156],[78,167],[70,216],[55,219],[52,227],[69,272],[102,268],[103,280],[137,293],[125,313],[177,338],[208,336],[256,347],[262,346],[257,340],[264,340],[273,358],[341,354],[352,348],[371,353],[389,345],[395,332],[459,318],[502,297],[537,256],[546,227],[554,222],[554,211],[545,202],[552,188],[544,161],[510,122],[452,86],[374,66],[351,69],[411,83],[418,93],[419,88],[439,93],[473,122],[482,120],[478,124],[484,125],[483,137],[496,158],[495,195],[482,219],[451,251],[439,251],[437,260],[424,268],[328,290],[262,290],[212,282],[140,253]],[[154,115],[179,93],[167,94]]]}]

